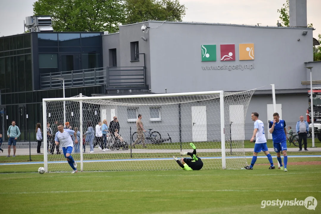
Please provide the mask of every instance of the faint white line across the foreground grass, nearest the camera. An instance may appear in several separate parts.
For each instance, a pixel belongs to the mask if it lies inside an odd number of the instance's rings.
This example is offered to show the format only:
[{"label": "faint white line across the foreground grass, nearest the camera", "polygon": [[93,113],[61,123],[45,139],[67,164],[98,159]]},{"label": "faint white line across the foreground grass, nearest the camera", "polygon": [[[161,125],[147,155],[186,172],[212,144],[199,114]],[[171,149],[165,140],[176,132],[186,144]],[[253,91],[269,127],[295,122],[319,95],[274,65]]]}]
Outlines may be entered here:
[{"label": "faint white line across the foreground grass, nearest the camera", "polygon": [[79,191],[46,191],[46,192],[17,192],[0,194],[41,194],[41,193],[108,193],[108,192],[291,192],[291,193],[321,193],[321,191],[301,190],[79,190]]}]

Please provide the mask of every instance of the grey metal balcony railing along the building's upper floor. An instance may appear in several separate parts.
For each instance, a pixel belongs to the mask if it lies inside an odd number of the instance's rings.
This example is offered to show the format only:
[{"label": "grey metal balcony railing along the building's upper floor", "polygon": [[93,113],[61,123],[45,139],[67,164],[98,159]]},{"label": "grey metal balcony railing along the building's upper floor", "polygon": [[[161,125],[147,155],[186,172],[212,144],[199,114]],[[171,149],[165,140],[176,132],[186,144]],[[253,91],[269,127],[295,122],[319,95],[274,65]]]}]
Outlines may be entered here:
[{"label": "grey metal balcony railing along the building's upper floor", "polygon": [[94,85],[106,85],[107,87],[146,86],[145,67],[102,67],[40,74],[40,89],[62,88],[65,80],[65,88],[84,87]]}]

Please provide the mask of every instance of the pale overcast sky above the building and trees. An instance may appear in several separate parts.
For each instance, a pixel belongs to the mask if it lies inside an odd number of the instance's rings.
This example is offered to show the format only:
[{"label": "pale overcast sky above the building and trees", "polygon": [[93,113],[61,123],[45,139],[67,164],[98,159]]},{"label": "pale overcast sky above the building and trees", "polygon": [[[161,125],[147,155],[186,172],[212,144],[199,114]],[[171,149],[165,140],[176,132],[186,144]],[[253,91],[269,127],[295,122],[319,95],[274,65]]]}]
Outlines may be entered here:
[{"label": "pale overcast sky above the building and trees", "polygon": [[[183,21],[211,23],[276,25],[277,9],[286,0],[179,0],[187,7]],[[0,36],[23,33],[23,20],[33,15],[36,0],[0,0]],[[307,0],[308,23],[321,34],[321,0]]]}]

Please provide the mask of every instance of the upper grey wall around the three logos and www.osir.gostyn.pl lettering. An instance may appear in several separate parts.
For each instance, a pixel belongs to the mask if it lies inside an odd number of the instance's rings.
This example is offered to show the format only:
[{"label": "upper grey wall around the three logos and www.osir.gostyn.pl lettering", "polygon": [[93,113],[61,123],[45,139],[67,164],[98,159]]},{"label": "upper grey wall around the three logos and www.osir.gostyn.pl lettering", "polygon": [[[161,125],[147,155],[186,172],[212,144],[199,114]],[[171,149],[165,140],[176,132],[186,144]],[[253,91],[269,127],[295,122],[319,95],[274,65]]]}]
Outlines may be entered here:
[{"label": "upper grey wall around the three logos and www.osir.gostyn.pl lettering", "polygon": [[[157,27],[161,22],[149,22]],[[125,28],[125,27],[123,27]],[[137,27],[139,29],[139,27]],[[308,34],[302,36],[303,30]],[[312,61],[312,29],[163,23],[150,29],[151,89],[154,93],[305,88],[304,62]],[[300,39],[298,41],[298,39]],[[254,60],[239,60],[239,44],[254,43]],[[201,62],[201,45],[216,44],[216,62]],[[235,44],[235,61],[220,61],[220,44]],[[202,66],[251,65],[253,69],[203,70]],[[291,81],[285,81],[291,77]],[[184,84],[178,84],[184,80]]]}]

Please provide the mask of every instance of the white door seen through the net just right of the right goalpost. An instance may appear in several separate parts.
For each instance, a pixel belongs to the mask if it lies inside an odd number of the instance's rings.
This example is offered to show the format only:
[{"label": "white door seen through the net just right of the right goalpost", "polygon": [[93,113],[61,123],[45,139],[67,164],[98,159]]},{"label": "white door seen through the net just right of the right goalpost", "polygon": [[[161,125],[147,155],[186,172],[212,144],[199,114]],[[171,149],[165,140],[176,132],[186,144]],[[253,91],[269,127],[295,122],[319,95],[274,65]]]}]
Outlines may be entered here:
[{"label": "white door seen through the net just right of the right goalpost", "polygon": [[[231,139],[244,140],[244,105],[230,105]],[[232,123],[231,123],[232,122]],[[227,124],[225,124],[226,126]],[[229,139],[230,140],[230,139]]]}]

